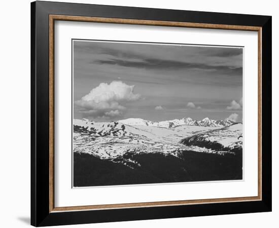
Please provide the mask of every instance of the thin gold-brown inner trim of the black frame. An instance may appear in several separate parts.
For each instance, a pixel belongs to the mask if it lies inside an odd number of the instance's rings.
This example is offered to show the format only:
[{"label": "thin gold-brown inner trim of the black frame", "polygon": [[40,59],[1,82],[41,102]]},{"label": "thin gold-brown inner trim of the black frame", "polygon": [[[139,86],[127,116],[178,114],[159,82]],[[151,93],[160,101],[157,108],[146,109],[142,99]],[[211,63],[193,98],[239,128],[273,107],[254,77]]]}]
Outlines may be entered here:
[{"label": "thin gold-brown inner trim of the black frame", "polygon": [[[258,32],[258,196],[237,197],[237,198],[219,198],[219,199],[200,199],[200,200],[161,201],[161,202],[145,202],[145,203],[88,205],[88,206],[72,206],[72,207],[55,207],[55,205],[54,205],[54,21],[55,20],[257,31]],[[122,19],[122,18],[81,17],[81,16],[66,16],[66,15],[49,15],[49,212],[104,210],[104,209],[136,208],[136,207],[178,206],[178,205],[190,205],[190,204],[227,203],[227,202],[241,202],[241,201],[243,202],[243,201],[260,201],[260,200],[262,200],[262,148],[261,148],[261,145],[262,145],[262,119],[261,119],[261,117],[262,117],[262,83],[261,83],[261,81],[262,81],[262,73],[261,73],[262,51],[261,50],[262,50],[262,27],[257,27],[257,26],[135,20],[135,19]]]}]

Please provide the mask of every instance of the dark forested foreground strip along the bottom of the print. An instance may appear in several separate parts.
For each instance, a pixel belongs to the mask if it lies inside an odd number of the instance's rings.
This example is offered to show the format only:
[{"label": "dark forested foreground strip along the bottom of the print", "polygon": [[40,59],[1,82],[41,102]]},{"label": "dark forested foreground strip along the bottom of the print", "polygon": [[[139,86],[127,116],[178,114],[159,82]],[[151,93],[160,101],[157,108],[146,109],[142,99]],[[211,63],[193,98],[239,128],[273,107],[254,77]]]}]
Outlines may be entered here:
[{"label": "dark forested foreground strip along the bottom of the print", "polygon": [[160,153],[125,154],[121,161],[74,153],[74,186],[242,179],[241,151],[226,155],[183,151],[179,157]]}]

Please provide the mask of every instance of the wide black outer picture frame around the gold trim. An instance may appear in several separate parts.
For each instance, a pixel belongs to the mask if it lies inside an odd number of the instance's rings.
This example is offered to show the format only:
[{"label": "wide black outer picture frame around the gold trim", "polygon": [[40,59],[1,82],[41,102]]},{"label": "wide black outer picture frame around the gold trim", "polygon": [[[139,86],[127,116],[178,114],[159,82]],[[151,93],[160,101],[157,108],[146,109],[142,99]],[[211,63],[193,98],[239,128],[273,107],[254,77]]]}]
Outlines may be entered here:
[{"label": "wide black outer picture frame around the gold trim", "polygon": [[[262,200],[50,212],[49,15],[124,18],[262,28]],[[31,225],[64,225],[271,211],[271,16],[56,2],[31,3]]]}]

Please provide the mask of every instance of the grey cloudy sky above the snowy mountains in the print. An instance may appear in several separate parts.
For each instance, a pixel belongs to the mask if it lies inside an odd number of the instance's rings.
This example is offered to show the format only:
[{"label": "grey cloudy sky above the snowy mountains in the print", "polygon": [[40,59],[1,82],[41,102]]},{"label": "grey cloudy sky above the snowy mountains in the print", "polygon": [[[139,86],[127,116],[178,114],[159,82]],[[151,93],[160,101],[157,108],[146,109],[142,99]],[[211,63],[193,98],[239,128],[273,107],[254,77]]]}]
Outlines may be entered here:
[{"label": "grey cloudy sky above the snowy mountains in the print", "polygon": [[242,121],[242,48],[73,41],[75,119]]}]

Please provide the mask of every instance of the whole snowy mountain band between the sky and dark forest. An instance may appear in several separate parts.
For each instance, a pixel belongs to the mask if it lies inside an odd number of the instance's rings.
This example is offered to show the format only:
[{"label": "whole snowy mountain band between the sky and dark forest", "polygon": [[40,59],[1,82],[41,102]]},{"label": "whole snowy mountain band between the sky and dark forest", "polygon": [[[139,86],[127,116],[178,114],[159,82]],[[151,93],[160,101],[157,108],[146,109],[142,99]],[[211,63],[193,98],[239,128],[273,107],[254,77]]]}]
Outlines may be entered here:
[{"label": "whole snowy mountain band between the sky and dark forest", "polygon": [[[76,153],[91,154],[100,159],[115,159],[126,153],[161,153],[176,156],[185,150],[227,153],[227,147],[240,145],[238,137],[242,136],[242,127],[232,131],[235,126],[242,124],[229,127],[221,125],[231,123],[208,118],[202,121],[183,118],[162,122],[135,118],[115,122],[74,120],[73,149]],[[217,141],[224,147],[206,147],[203,142],[208,140]],[[223,143],[225,140],[230,141],[229,146]]]}]

